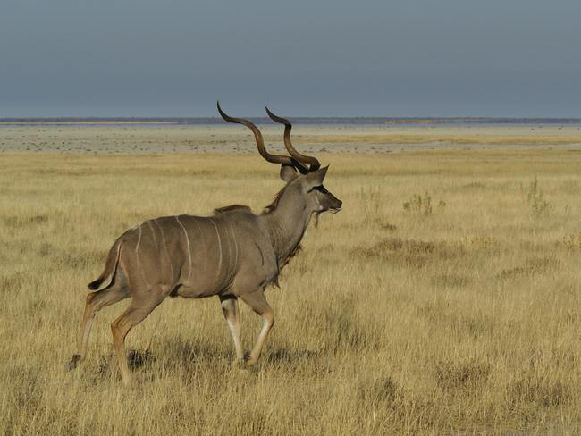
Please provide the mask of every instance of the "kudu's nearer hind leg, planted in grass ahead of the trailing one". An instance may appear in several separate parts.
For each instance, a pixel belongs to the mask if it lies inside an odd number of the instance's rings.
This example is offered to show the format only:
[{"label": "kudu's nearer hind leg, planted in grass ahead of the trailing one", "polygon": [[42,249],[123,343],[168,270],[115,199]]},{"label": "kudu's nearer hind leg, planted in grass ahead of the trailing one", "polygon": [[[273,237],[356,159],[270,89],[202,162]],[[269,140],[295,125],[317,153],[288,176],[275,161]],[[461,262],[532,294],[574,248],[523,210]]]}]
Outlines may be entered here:
[{"label": "kudu's nearer hind leg, planted in grass ahead of the trailing one", "polygon": [[141,323],[151,314],[164,297],[159,297],[156,292],[147,293],[147,297],[133,298],[131,304],[125,312],[121,314],[113,323],[111,323],[111,332],[113,333],[113,342],[117,352],[117,361],[123,384],[128,385],[131,381],[129,365],[127,364],[127,354],[125,353],[125,337],[127,333],[137,324]]}]

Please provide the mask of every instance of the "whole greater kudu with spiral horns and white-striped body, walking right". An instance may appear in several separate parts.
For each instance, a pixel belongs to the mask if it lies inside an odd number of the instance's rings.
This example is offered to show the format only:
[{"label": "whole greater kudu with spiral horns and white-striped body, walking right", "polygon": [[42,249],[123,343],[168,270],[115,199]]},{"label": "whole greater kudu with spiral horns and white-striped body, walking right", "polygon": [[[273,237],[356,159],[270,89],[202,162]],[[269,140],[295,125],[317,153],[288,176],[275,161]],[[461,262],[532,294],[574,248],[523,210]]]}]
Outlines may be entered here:
[{"label": "whole greater kudu with spiral horns and white-striped body, walking right", "polygon": [[[294,256],[311,216],[338,212],[341,201],[324,189],[327,167],[319,169],[314,157],[301,155],[290,142],[290,122],[266,108],[271,119],[285,125],[284,144],[290,156],[271,155],[260,130],[252,122],[218,111],[227,122],[244,124],[254,133],[258,151],[268,162],[281,164],[286,182],[262,214],[248,206],[215,209],[212,216],[175,215],[142,222],[125,231],[105,261],[105,270],[88,284],[89,293],[80,330],[80,350],[68,369],[87,353],[88,335],[97,312],[124,298],[131,304],[111,324],[122,381],[130,381],[124,340],[164,298],[220,298],[232,334],[236,356],[243,365],[255,365],[274,324],[265,289],[277,282],[282,267]],[[245,360],[240,341],[238,298],[263,317],[255,347]]]}]

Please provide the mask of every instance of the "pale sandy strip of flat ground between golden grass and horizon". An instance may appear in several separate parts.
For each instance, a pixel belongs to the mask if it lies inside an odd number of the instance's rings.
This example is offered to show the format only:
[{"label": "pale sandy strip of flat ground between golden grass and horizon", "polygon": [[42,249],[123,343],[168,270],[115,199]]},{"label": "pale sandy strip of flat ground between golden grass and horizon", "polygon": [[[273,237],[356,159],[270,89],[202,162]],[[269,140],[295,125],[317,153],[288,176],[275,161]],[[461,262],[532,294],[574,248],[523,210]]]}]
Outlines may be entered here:
[{"label": "pale sandy strip of flat ground between golden grass and horizon", "polygon": [[[282,151],[282,129],[260,126],[270,150]],[[296,126],[295,146],[305,153],[387,153],[405,150],[542,147],[581,149],[581,127],[572,126]],[[236,153],[256,152],[242,126],[0,127],[0,153]]]}]

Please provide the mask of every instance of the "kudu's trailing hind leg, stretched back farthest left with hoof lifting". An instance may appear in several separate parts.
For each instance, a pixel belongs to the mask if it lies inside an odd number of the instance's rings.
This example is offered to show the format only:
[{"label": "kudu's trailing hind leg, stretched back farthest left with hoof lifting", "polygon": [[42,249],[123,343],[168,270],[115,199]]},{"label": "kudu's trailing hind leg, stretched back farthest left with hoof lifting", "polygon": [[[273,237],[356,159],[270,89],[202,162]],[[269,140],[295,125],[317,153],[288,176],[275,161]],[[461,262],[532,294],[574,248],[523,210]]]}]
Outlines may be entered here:
[{"label": "kudu's trailing hind leg, stretched back farthest left with hoof lifting", "polygon": [[111,306],[118,301],[130,296],[130,290],[125,281],[115,282],[109,288],[97,290],[87,295],[85,313],[80,325],[79,353],[72,355],[71,361],[67,364],[67,370],[76,368],[87,356],[88,335],[95,320],[95,315],[103,307]]}]

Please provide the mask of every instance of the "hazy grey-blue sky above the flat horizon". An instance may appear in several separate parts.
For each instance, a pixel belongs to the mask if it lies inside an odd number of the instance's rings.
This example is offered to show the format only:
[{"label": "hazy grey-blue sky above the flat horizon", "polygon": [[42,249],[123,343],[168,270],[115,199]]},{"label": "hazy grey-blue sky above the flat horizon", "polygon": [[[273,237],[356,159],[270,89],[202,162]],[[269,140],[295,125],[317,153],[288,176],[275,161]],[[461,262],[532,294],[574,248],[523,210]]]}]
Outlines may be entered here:
[{"label": "hazy grey-blue sky above the flat horizon", "polygon": [[0,117],[581,116],[579,0],[2,0]]}]

